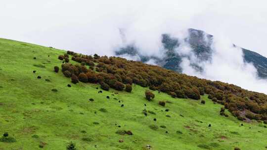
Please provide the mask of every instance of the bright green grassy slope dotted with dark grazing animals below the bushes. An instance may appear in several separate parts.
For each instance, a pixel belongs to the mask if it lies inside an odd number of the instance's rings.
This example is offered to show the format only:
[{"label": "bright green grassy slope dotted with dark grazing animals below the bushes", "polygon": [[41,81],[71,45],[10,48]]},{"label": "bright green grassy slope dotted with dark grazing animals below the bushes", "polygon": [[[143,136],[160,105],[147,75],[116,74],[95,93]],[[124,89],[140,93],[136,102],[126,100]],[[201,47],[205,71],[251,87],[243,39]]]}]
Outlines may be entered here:
[{"label": "bright green grassy slope dotted with dark grazing animals below the bushes", "polygon": [[[138,85],[133,86],[132,93],[120,91],[112,96],[117,91],[98,94],[98,84],[71,84],[70,78],[53,72],[53,67],[62,63],[58,55],[64,53],[0,39],[0,134],[8,132],[16,139],[13,143],[0,142],[0,150],[66,150],[71,141],[77,150],[148,150],[147,145],[150,150],[267,147],[263,123],[245,123],[227,111],[229,117],[221,116],[222,106],[213,104],[207,95],[201,97],[205,105],[199,100],[171,98],[158,92],[154,92],[154,101],[148,102],[144,97],[146,88]],[[90,102],[90,98],[94,101]],[[161,100],[169,103],[162,107],[158,105]],[[144,116],[144,109],[154,114]],[[151,129],[151,125],[158,129]],[[130,130],[133,135],[116,134],[118,130]]]}]

